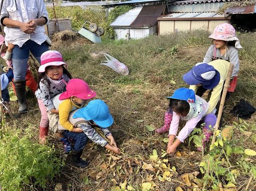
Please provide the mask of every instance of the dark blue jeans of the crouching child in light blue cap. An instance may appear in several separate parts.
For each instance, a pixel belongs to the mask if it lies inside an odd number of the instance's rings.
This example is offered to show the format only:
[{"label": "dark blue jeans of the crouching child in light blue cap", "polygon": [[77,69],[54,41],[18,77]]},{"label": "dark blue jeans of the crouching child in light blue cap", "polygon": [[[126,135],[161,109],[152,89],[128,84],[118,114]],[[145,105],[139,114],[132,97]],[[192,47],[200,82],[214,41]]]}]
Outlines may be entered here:
[{"label": "dark blue jeans of the crouching child in light blue cap", "polygon": [[65,130],[62,134],[76,141],[73,148],[75,151],[80,151],[85,148],[88,141],[88,137],[85,135],[85,133],[74,133],[72,131]]}]

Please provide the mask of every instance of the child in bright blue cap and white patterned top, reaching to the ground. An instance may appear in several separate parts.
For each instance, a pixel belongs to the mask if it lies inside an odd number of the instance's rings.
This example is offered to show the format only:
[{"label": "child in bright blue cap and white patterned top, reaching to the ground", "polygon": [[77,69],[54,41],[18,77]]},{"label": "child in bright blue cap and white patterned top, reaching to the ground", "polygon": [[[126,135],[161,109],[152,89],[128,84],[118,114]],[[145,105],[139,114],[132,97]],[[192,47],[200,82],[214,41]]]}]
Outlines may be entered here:
[{"label": "child in bright blue cap and white patterned top, reaching to the ground", "polygon": [[[196,96],[193,90],[187,88],[180,88],[174,92],[170,99],[169,109],[172,111],[173,117],[169,127],[169,141],[167,145],[167,152],[173,153],[177,147],[184,142],[187,136],[193,131],[196,125],[205,123],[203,126],[203,133],[205,138],[202,140],[202,147],[205,148],[206,141],[212,135],[213,127],[216,123],[217,117],[213,113],[207,114],[209,103],[203,98]],[[187,121],[186,125],[180,130],[179,120]],[[177,138],[175,140],[175,138]],[[175,142],[174,142],[175,140]],[[202,147],[197,148],[201,151]]]}]

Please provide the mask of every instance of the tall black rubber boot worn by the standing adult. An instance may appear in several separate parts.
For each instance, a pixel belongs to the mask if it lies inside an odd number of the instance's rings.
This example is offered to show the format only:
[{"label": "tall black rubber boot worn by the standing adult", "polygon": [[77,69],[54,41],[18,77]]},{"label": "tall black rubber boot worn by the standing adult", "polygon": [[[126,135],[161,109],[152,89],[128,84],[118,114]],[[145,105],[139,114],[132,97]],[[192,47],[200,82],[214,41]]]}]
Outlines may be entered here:
[{"label": "tall black rubber boot worn by the standing adult", "polygon": [[27,113],[28,111],[28,105],[26,102],[26,81],[21,80],[21,81],[15,81],[13,82],[15,90],[16,90],[16,96],[19,101],[19,110],[18,112],[20,114]]}]

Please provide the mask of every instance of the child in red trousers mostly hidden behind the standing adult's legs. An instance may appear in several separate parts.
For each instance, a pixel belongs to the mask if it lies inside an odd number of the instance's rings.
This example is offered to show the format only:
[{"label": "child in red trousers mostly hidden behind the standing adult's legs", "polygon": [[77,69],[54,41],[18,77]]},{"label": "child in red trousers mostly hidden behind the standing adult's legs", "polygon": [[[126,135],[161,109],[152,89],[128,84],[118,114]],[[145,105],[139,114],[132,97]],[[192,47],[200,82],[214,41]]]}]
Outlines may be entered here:
[{"label": "child in red trousers mostly hidden behind the standing adult's legs", "polygon": [[[7,47],[4,43],[4,41],[5,41],[4,36],[0,35],[0,45],[4,46],[3,50],[1,52],[1,57],[4,60],[6,60],[7,66],[12,67],[12,58],[11,58],[12,57],[12,49],[15,47],[15,45],[12,43],[8,43],[8,47]],[[28,86],[31,90],[33,90],[34,93],[37,90],[37,82],[33,78],[33,75],[30,72],[30,67],[28,64],[27,64],[27,73],[26,73],[26,86]],[[12,83],[12,88],[16,95],[16,90],[15,90],[13,83]]]}]

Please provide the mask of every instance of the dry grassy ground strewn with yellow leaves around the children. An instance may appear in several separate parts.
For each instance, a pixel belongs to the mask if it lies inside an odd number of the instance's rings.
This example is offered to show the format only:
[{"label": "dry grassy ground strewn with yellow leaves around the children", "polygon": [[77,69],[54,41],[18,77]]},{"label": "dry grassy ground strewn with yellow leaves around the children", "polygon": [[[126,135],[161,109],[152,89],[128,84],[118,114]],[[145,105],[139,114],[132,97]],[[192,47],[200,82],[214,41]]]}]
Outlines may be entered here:
[{"label": "dry grassy ground strewn with yellow leaves around the children", "polygon": [[[167,149],[167,143],[164,142],[167,134],[159,135],[152,128],[163,126],[164,113],[169,104],[165,97],[171,96],[178,88],[189,87],[183,82],[182,76],[197,62],[203,61],[207,48],[211,45],[211,40],[207,39],[208,35],[206,31],[194,31],[150,36],[129,42],[119,40],[91,44],[81,37],[72,41],[53,42],[51,49],[61,52],[73,78],[85,80],[89,87],[97,92],[95,98],[102,99],[109,106],[114,117],[114,125],[110,130],[124,155],[111,157],[105,148],[89,141],[83,152],[83,158],[90,161],[89,167],[73,168],[69,164],[70,156],[61,153],[61,142],[49,132],[49,144],[46,147],[54,146],[58,155],[66,160],[66,166],[63,167],[60,177],[54,177],[48,182],[46,190],[54,190],[56,184],[61,183],[63,191],[118,191],[122,190],[122,183],[127,183],[126,190],[134,191],[175,191],[179,187],[183,191],[201,191],[203,187],[205,190],[211,190],[216,181],[222,185],[234,184],[234,187],[226,187],[226,191],[232,191],[234,188],[246,190],[247,185],[248,190],[255,189],[254,177],[248,184],[252,174],[250,167],[245,168],[245,165],[249,164],[255,166],[255,157],[234,152],[227,156],[224,146],[219,146],[223,155],[214,157],[213,161],[220,163],[212,166],[210,178],[202,173],[202,165],[199,165],[202,161],[207,161],[210,143],[207,151],[202,154],[196,151],[193,139],[189,136],[177,152],[160,157]],[[239,51],[238,84],[231,98],[225,103],[221,129],[225,125],[234,125],[235,121],[238,125],[233,129],[230,140],[233,141],[232,145],[256,150],[256,145],[251,139],[256,133],[256,114],[246,120],[244,125],[243,120],[239,121],[229,113],[241,98],[256,106],[256,34],[244,33],[238,38],[243,47]],[[129,68],[129,75],[123,77],[109,67],[100,65],[102,60],[106,60],[103,53],[112,55],[124,63]],[[207,94],[204,97],[207,98]],[[12,110],[16,111],[17,103],[13,101],[11,104]],[[9,121],[8,127],[24,129],[24,135],[25,129],[30,129],[30,133],[33,133],[31,141],[37,142],[41,113],[33,95],[28,97],[28,107],[28,114],[16,121]],[[180,128],[184,124],[181,122]],[[152,160],[152,155],[155,156],[154,150],[158,155],[156,160]],[[216,152],[216,149],[214,151]],[[226,170],[216,175],[216,168]],[[184,174],[193,174],[193,184],[188,186],[188,183],[184,182]],[[230,179],[231,176],[235,179]],[[213,178],[216,179],[215,182],[210,181]],[[150,183],[150,186],[147,183]],[[151,188],[147,189],[146,186]],[[41,190],[40,187],[26,189]]]}]

